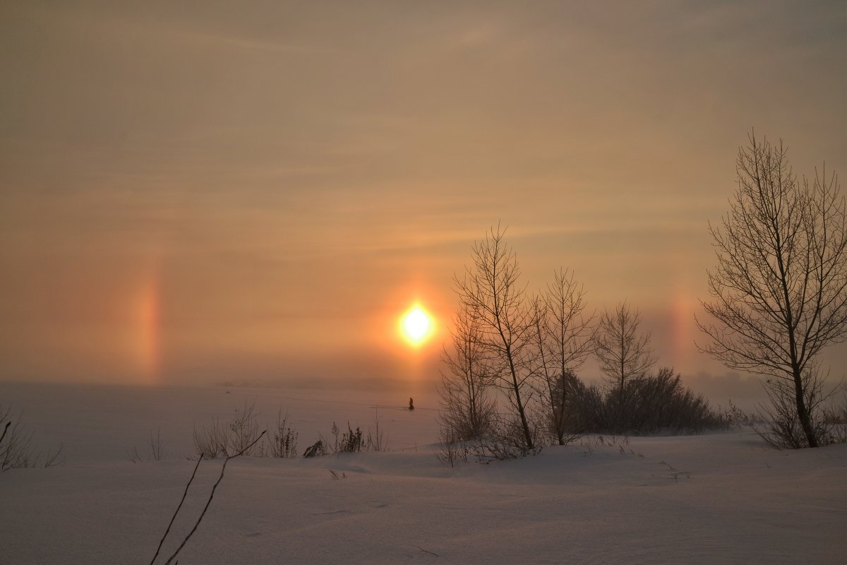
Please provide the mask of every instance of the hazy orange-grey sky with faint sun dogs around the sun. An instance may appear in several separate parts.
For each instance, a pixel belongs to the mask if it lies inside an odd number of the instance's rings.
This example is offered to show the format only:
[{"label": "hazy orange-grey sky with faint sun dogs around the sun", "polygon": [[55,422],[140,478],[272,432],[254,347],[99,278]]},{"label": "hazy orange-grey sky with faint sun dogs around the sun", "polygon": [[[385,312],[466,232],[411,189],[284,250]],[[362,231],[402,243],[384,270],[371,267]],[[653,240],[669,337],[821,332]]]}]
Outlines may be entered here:
[{"label": "hazy orange-grey sky with faint sun dogs around the sun", "polygon": [[719,374],[739,145],[847,174],[843,0],[4,0],[0,71],[0,379],[435,376],[498,222],[529,290],[573,269]]}]

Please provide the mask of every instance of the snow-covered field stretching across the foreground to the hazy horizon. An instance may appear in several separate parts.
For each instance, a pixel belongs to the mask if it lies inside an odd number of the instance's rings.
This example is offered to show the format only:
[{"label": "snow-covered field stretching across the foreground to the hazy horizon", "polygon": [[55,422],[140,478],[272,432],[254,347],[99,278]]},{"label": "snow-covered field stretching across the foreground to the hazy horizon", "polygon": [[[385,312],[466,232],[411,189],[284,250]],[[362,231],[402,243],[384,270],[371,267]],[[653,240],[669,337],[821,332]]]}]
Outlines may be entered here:
[{"label": "snow-covered field stretching across the foreground to the hazy horizon", "polygon": [[[380,427],[392,451],[237,458],[189,563],[844,563],[847,446],[775,451],[750,430],[596,438],[457,468],[433,455],[434,391],[129,388],[0,383],[58,468],[0,474],[0,563],[149,563],[194,462],[191,429],[256,402],[299,451],[333,421]],[[166,459],[145,455],[151,430]],[[610,445],[611,444],[611,445]],[[222,461],[203,462],[166,542],[191,529]],[[334,471],[339,479],[335,479]]]}]

